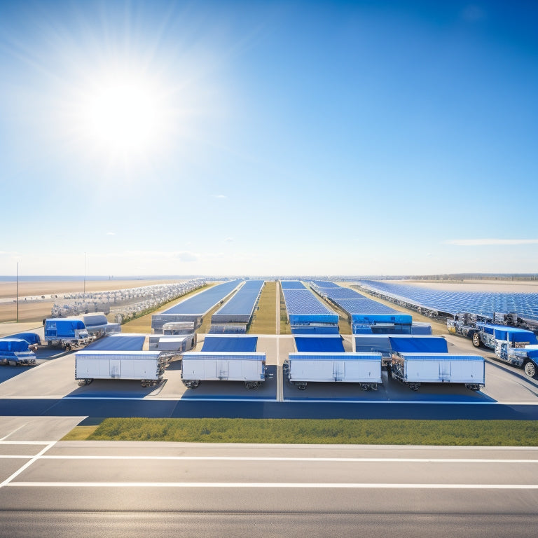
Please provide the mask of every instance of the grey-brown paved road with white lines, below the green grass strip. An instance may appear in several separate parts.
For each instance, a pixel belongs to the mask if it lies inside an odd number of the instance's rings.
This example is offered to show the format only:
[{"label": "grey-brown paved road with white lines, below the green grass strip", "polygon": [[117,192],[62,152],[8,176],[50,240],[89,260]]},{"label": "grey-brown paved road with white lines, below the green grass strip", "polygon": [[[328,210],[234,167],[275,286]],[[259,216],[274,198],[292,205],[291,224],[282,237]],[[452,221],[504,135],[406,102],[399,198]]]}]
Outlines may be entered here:
[{"label": "grey-brown paved road with white lines, below the green grass strip", "polygon": [[516,537],[538,522],[538,448],[43,439],[0,450],[1,536]]}]

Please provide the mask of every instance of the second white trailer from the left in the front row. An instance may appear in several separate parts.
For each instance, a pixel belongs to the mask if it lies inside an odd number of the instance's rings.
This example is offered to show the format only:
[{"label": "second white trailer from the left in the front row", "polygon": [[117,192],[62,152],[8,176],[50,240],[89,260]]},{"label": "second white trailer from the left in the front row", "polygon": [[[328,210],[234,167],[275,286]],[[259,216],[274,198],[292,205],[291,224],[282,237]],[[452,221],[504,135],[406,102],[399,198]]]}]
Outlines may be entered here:
[{"label": "second white trailer from the left in the front row", "polygon": [[181,359],[181,380],[189,389],[201,381],[242,381],[256,389],[265,381],[265,353],[186,352]]}]

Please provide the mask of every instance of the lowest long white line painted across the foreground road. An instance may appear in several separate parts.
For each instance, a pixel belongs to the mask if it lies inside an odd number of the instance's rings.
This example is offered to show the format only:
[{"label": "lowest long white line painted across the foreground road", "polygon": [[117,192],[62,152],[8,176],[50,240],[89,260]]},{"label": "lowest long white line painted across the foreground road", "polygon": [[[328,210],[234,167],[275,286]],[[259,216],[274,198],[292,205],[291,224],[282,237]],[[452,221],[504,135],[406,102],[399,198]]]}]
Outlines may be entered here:
[{"label": "lowest long white line painted across the foreground road", "polygon": [[12,488],[309,488],[309,489],[426,489],[538,490],[538,484],[385,484],[302,482],[10,482]]}]

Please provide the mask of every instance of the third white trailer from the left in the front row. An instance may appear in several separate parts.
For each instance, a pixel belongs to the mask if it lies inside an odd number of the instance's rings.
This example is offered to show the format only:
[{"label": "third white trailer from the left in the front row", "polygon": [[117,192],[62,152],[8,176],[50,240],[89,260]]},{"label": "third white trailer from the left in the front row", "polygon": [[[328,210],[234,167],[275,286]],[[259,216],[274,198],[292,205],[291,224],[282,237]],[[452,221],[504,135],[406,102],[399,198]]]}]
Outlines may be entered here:
[{"label": "third white trailer from the left in the front row", "polygon": [[298,389],[308,382],[359,383],[363,390],[377,390],[381,382],[380,353],[290,353],[284,375]]}]

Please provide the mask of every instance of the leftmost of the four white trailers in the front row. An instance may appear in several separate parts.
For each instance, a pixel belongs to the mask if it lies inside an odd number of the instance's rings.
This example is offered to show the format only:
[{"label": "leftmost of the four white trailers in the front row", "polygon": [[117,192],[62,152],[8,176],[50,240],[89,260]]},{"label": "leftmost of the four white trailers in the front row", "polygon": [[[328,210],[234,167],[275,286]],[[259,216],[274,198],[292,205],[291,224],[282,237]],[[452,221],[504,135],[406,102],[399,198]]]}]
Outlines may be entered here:
[{"label": "leftmost of the four white trailers in the front row", "polygon": [[142,387],[163,379],[166,361],[153,351],[79,351],[75,353],[75,379],[88,385],[94,379],[140,380]]}]

